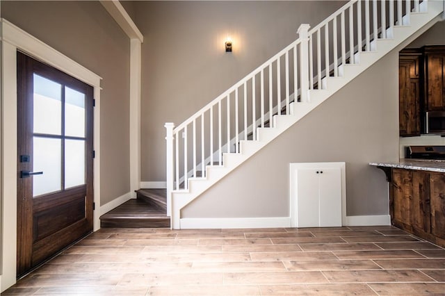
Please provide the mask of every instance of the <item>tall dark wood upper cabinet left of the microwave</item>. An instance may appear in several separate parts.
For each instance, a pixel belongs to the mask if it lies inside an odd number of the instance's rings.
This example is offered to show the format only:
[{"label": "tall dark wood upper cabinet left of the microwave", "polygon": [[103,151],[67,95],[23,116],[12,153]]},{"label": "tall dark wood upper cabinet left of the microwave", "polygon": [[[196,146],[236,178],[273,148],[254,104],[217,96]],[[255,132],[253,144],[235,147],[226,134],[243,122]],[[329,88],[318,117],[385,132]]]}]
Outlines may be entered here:
[{"label": "tall dark wood upper cabinet left of the microwave", "polygon": [[421,133],[421,79],[423,58],[419,49],[403,49],[399,54],[399,129],[403,137]]}]

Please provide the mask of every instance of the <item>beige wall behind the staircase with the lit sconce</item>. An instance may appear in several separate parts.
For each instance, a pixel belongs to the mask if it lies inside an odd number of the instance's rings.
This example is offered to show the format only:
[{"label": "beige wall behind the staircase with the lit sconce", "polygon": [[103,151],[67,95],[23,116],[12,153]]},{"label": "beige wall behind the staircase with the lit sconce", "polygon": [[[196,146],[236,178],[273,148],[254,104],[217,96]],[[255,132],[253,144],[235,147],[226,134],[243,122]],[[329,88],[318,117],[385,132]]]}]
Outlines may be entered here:
[{"label": "beige wall behind the staircase with the lit sconce", "polygon": [[[142,180],[165,181],[165,122],[180,124],[345,1],[134,1],[142,49]],[[234,51],[226,54],[231,35]]]}]

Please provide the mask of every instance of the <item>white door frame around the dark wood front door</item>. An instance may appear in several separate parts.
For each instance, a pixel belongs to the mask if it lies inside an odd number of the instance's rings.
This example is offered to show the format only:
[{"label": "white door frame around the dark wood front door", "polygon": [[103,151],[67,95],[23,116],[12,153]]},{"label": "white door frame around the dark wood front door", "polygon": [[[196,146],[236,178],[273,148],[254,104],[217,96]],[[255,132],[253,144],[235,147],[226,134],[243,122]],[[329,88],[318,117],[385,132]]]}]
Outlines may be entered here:
[{"label": "white door frame around the dark wood front door", "polygon": [[101,77],[49,47],[6,19],[1,21],[1,245],[0,290],[16,281],[17,257],[17,50],[92,85],[94,110],[94,230],[99,229],[100,206],[100,81]]}]

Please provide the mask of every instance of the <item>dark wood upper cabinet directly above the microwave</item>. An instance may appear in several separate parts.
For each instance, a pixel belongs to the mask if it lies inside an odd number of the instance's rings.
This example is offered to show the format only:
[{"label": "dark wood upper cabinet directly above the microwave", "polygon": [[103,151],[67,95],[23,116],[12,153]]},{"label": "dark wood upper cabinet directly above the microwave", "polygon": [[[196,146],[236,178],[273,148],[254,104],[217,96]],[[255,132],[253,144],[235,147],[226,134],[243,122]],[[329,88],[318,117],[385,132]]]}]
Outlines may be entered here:
[{"label": "dark wood upper cabinet directly above the microwave", "polygon": [[445,45],[423,47],[426,111],[445,110]]}]

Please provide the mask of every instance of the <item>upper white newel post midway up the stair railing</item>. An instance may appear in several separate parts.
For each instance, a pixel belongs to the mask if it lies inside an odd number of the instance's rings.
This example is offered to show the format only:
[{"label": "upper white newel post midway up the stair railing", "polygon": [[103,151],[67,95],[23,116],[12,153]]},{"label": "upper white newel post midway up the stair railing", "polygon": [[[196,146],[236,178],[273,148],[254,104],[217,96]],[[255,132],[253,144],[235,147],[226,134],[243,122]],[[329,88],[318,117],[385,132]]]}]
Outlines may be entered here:
[{"label": "upper white newel post midway up the stair railing", "polygon": [[298,28],[298,35],[301,40],[300,42],[300,101],[309,101],[308,90],[309,90],[309,24],[301,24]]}]

